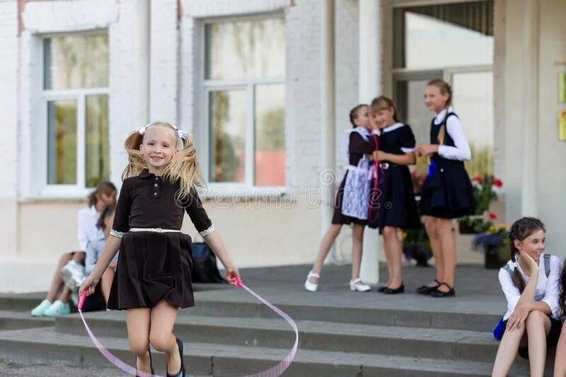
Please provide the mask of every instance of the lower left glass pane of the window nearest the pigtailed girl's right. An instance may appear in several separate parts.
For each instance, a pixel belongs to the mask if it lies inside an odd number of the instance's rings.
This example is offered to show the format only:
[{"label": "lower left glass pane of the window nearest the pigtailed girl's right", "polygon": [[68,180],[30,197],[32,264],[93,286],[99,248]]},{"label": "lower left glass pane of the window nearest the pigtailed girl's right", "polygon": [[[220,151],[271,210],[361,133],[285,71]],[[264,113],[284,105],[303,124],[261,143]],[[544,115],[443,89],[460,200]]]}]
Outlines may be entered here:
[{"label": "lower left glass pane of the window nearest the pigtailed girl's right", "polygon": [[246,180],[246,92],[209,93],[210,182]]}]

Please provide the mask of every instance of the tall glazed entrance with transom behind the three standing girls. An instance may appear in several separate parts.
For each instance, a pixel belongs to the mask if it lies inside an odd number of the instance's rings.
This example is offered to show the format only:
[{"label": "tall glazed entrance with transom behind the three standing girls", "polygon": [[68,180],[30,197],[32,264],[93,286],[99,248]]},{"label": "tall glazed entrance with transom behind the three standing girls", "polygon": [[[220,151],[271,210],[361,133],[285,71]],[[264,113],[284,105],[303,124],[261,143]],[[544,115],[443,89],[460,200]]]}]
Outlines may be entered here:
[{"label": "tall glazed entrance with transom behind the three standing girls", "polygon": [[493,1],[395,8],[393,30],[395,103],[417,141],[429,141],[432,119],[422,104],[424,86],[444,79],[472,149],[468,173],[492,174]]}]

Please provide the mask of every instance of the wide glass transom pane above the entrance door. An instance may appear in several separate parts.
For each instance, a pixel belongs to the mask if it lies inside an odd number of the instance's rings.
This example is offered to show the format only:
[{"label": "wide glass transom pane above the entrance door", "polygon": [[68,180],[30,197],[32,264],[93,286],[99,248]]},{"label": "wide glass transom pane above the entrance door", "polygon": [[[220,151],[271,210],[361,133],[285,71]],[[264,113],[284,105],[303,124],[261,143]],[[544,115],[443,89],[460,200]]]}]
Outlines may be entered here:
[{"label": "wide glass transom pane above the entrance door", "polygon": [[493,63],[493,1],[400,8],[394,14],[397,68]]}]

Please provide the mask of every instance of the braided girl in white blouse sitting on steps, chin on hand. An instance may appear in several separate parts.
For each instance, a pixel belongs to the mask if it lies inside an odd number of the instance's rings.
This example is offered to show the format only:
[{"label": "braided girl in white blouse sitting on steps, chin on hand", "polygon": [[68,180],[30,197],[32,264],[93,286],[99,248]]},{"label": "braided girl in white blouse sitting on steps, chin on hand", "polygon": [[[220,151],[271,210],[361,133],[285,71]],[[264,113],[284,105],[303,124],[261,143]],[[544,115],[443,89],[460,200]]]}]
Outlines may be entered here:
[{"label": "braided girl in white blouse sitting on steps, chin on hand", "polygon": [[556,344],[562,327],[558,303],[560,259],[543,255],[544,224],[532,217],[514,222],[509,246],[511,260],[499,269],[507,313],[492,376],[507,376],[519,351],[519,355],[529,359],[531,376],[542,377],[546,349]]}]

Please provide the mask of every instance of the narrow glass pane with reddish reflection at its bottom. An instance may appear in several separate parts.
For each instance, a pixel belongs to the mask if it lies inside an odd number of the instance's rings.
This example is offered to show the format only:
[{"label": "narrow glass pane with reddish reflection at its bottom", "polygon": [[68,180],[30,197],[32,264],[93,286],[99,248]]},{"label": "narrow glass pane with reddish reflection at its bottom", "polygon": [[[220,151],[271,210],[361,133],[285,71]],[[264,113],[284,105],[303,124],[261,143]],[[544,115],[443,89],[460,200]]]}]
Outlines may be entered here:
[{"label": "narrow glass pane with reddish reflection at its bottom", "polygon": [[285,184],[285,86],[255,88],[255,185]]}]

